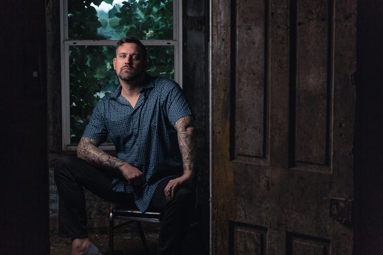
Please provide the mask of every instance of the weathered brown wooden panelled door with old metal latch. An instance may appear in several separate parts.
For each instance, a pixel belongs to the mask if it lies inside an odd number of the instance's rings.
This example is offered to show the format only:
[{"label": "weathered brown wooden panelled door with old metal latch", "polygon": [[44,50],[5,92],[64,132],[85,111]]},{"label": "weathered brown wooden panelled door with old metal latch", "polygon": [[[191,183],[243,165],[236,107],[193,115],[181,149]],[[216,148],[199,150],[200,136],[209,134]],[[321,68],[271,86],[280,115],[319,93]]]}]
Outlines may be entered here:
[{"label": "weathered brown wooden panelled door with old metal latch", "polygon": [[351,254],[355,1],[211,13],[212,254]]}]

